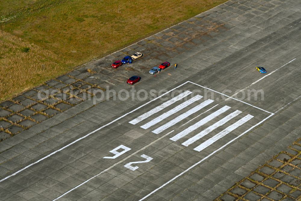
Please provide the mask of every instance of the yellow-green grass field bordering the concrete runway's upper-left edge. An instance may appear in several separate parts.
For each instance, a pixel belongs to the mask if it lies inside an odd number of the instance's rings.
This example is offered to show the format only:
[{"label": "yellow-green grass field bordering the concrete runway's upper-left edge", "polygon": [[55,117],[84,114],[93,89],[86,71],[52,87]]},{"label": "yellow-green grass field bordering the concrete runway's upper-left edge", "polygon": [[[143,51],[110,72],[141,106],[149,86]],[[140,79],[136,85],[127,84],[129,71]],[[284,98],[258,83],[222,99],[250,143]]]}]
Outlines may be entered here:
[{"label": "yellow-green grass field bordering the concrete runway's upper-left edge", "polygon": [[0,100],[226,1],[2,0]]}]

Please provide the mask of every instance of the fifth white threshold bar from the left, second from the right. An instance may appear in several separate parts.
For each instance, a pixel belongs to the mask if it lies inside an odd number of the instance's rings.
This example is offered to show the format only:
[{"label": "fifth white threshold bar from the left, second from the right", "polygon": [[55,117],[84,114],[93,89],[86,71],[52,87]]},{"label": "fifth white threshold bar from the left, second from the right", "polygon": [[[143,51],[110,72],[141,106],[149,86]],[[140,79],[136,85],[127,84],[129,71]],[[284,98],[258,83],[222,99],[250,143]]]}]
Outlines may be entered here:
[{"label": "fifth white threshold bar from the left, second from the right", "polygon": [[208,128],[206,128],[202,132],[200,132],[197,135],[193,136],[192,138],[186,140],[185,142],[182,143],[182,145],[184,145],[186,147],[188,145],[191,145],[195,141],[201,139],[202,137],[206,136],[208,133],[212,132],[214,129],[218,128],[219,126],[224,125],[225,123],[227,123],[228,121],[233,119],[235,116],[239,115],[240,113],[241,113],[241,111],[239,111],[239,110],[236,110],[235,112],[232,112],[231,114],[229,114],[226,117],[222,118],[221,120],[219,120],[218,122],[216,122],[212,126],[209,126]]}]

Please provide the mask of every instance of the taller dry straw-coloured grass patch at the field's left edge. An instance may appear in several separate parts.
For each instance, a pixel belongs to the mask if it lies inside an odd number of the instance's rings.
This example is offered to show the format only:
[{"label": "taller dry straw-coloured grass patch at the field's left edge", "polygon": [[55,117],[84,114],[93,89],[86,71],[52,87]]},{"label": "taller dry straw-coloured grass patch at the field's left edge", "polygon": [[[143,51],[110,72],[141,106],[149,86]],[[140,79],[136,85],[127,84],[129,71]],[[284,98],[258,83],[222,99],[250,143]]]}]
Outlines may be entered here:
[{"label": "taller dry straw-coloured grass patch at the field's left edge", "polygon": [[[0,30],[0,94],[10,97],[66,71],[71,62]],[[21,49],[27,47],[28,52]]]}]

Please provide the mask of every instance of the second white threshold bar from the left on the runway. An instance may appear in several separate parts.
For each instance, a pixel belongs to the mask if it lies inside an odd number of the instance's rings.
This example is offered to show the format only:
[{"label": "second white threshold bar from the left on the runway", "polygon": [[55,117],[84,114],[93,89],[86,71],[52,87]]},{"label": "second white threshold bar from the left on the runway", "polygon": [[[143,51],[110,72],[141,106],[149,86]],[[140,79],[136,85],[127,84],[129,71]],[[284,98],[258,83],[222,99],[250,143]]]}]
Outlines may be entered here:
[{"label": "second white threshold bar from the left on the runway", "polygon": [[172,108],[166,113],[163,113],[162,115],[158,116],[157,118],[150,120],[148,123],[144,124],[143,126],[140,126],[143,129],[148,129],[151,126],[154,126],[156,123],[159,123],[163,119],[166,119],[167,117],[171,116],[172,114],[182,110],[183,108],[187,107],[188,105],[194,103],[195,101],[198,101],[202,98],[203,96],[196,95],[193,98],[189,99],[188,101],[185,101],[182,104],[179,104],[177,107]]}]

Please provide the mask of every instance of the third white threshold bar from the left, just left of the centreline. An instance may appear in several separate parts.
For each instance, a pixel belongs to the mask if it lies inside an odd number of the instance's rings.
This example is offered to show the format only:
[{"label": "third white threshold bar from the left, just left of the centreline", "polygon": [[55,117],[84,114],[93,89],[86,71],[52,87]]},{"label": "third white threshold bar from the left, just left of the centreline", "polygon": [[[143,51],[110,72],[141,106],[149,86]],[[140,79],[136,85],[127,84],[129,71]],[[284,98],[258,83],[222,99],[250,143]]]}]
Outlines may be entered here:
[{"label": "third white threshold bar from the left, just left of the centreline", "polygon": [[162,132],[165,129],[168,129],[170,126],[175,125],[176,123],[178,123],[179,121],[185,119],[186,117],[188,117],[189,115],[199,111],[200,109],[202,109],[203,107],[206,107],[207,105],[209,105],[210,103],[212,103],[213,100],[208,99],[204,102],[202,102],[201,104],[197,105],[196,107],[188,110],[187,112],[181,114],[180,116],[176,117],[175,119],[169,121],[168,123],[160,126],[159,128],[155,129],[154,131],[152,131],[153,133],[159,134],[160,132]]}]

